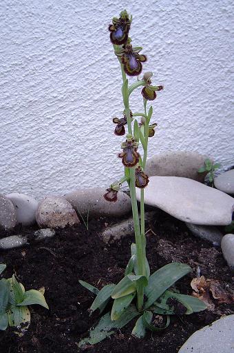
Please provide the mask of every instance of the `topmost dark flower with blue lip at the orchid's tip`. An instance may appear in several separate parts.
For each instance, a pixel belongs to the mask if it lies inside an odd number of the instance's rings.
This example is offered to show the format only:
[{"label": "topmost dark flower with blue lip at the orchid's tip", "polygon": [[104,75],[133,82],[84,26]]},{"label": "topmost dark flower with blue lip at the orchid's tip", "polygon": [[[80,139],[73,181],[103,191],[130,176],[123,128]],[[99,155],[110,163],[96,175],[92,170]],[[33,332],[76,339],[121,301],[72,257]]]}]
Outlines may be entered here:
[{"label": "topmost dark flower with blue lip at the orchid's tip", "polygon": [[129,29],[131,26],[131,19],[126,10],[120,13],[120,18],[114,17],[112,25],[109,25],[109,31],[111,32],[109,37],[111,43],[121,46],[127,43]]}]

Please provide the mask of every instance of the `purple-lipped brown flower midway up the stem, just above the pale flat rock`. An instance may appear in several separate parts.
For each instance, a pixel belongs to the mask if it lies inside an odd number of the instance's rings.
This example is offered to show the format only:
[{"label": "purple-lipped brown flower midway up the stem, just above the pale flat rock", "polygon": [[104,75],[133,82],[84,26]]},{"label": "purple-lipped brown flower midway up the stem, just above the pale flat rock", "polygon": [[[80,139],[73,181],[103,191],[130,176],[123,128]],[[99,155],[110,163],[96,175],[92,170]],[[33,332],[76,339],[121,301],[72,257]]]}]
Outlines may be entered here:
[{"label": "purple-lipped brown flower midway up the stem, just above the pale flat rock", "polygon": [[122,159],[123,165],[127,168],[134,167],[140,158],[140,154],[137,152],[138,143],[131,137],[131,139],[127,139],[122,143],[121,147],[123,152],[119,153],[118,157]]}]

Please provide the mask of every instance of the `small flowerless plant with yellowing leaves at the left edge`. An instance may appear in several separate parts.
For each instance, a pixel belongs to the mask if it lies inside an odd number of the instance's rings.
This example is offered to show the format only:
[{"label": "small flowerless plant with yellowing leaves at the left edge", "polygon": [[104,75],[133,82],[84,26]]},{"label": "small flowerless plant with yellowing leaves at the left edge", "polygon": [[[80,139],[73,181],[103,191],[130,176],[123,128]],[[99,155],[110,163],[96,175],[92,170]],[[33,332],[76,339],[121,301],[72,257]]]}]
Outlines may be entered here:
[{"label": "small flowerless plant with yellowing leaves at the left edge", "polygon": [[[0,264],[0,274],[6,265]],[[0,330],[9,326],[17,327],[23,334],[30,325],[28,305],[38,304],[49,309],[43,293],[39,290],[27,290],[19,283],[14,274],[10,279],[0,281]]]}]

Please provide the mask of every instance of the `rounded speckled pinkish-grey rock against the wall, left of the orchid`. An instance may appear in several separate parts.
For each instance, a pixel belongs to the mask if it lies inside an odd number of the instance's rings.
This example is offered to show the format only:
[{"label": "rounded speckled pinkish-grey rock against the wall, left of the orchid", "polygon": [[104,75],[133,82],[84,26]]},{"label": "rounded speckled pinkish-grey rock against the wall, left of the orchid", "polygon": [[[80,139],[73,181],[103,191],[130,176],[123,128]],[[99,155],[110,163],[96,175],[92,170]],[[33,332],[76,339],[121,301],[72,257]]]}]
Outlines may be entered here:
[{"label": "rounded speckled pinkish-grey rock against the wall, left of the orchid", "polygon": [[36,221],[43,228],[64,228],[80,223],[72,205],[63,197],[48,196],[39,202]]}]

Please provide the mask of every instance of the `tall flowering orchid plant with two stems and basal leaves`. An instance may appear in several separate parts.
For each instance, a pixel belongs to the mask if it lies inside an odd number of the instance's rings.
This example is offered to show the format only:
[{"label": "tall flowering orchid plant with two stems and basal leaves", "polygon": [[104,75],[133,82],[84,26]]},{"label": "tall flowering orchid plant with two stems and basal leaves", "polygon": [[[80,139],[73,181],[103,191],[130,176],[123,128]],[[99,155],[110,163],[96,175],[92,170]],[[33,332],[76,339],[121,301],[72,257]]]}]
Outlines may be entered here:
[{"label": "tall flowering orchid plant with two stems and basal leaves", "polygon": [[[118,136],[125,135],[121,144],[122,152],[118,157],[125,167],[123,177],[110,185],[104,197],[109,202],[116,202],[118,191],[123,183],[128,183],[132,214],[134,218],[135,243],[131,245],[131,258],[127,263],[125,276],[117,284],[110,283],[98,288],[79,281],[83,287],[96,295],[90,307],[90,312],[106,310],[107,304],[113,299],[111,312],[106,312],[96,327],[89,331],[89,337],[79,343],[83,348],[88,344],[94,345],[110,336],[116,329],[125,326],[129,321],[138,316],[132,334],[142,338],[146,330],[158,331],[169,325],[170,315],[191,314],[206,309],[199,299],[178,293],[172,288],[174,283],[182,276],[191,272],[189,265],[184,263],[169,263],[158,271],[150,274],[149,263],[146,256],[145,238],[145,205],[144,188],[149,183],[145,173],[149,137],[155,134],[157,123],[151,123],[153,107],[147,110],[147,102],[156,99],[156,92],[162,90],[162,85],[152,85],[152,72],[145,72],[142,79],[142,63],[147,61],[145,54],[140,54],[141,47],[133,47],[129,37],[132,17],[126,10],[120,17],[114,17],[109,26],[110,40],[114,47],[114,54],[120,62],[122,73],[123,117],[115,117],[114,133]],[[138,77],[135,83],[129,85],[127,76]],[[142,88],[143,111],[133,112],[130,109],[129,98],[137,88]],[[138,121],[140,119],[140,121]],[[142,145],[143,156],[138,152]],[[136,199],[136,188],[140,188],[140,217]],[[140,220],[139,220],[140,218]],[[106,310],[107,311],[107,310]],[[164,327],[153,325],[153,315],[164,315]]]}]

